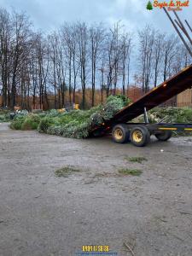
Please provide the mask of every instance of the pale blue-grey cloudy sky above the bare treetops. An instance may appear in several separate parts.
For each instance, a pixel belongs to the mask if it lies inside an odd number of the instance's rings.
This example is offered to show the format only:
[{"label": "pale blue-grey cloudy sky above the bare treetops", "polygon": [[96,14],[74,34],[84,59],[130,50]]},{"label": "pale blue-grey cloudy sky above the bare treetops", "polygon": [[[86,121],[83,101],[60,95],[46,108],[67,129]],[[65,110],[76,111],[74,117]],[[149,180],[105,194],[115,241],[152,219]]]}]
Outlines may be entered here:
[{"label": "pale blue-grey cloudy sky above the bare treetops", "polygon": [[[64,21],[77,20],[102,21],[107,25],[121,20],[131,31],[153,24],[161,31],[174,32],[164,11],[148,11],[147,3],[148,0],[0,0],[3,8],[26,11],[34,26],[45,32],[59,27]],[[192,25],[192,1],[179,15]]]}]

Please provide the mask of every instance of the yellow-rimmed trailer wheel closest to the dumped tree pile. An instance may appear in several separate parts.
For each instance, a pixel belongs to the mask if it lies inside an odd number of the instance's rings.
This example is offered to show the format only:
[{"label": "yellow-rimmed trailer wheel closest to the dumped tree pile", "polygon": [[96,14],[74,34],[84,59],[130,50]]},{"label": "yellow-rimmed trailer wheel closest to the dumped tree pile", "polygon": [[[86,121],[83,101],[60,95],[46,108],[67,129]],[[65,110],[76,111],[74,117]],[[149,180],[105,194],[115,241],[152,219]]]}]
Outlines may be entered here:
[{"label": "yellow-rimmed trailer wheel closest to the dumped tree pile", "polygon": [[113,142],[127,143],[130,138],[130,131],[125,125],[115,125],[112,131]]}]

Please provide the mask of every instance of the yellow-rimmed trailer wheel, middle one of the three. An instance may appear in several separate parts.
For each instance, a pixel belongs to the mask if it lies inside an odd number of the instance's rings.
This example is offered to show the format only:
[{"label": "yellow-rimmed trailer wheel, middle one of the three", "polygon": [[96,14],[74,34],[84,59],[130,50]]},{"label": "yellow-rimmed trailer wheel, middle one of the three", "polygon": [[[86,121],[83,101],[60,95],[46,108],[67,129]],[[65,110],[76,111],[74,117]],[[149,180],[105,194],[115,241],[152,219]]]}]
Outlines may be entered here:
[{"label": "yellow-rimmed trailer wheel, middle one of the three", "polygon": [[137,147],[143,147],[150,141],[150,133],[144,126],[137,126],[132,128],[130,133],[131,143]]}]

